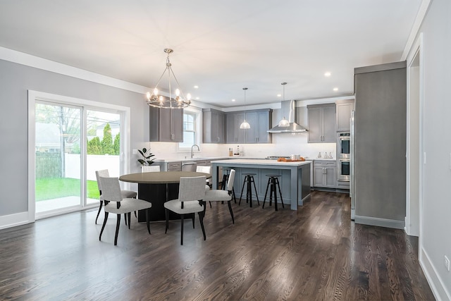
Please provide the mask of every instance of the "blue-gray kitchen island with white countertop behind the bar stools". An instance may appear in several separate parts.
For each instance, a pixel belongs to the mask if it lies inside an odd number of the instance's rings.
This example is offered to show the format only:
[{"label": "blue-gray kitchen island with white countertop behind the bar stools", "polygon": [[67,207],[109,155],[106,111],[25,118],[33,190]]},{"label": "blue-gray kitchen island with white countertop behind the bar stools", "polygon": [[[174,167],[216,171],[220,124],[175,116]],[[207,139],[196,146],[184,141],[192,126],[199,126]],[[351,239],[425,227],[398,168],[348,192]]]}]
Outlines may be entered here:
[{"label": "blue-gray kitchen island with white countertop behind the bar stools", "polygon": [[[254,176],[257,185],[257,195],[263,201],[266,184],[268,183],[267,174],[280,174],[280,188],[284,203],[291,204],[292,210],[297,210],[297,206],[302,206],[304,199],[310,196],[310,168],[311,161],[292,161],[278,162],[276,160],[265,159],[230,159],[211,161],[214,189],[217,189],[219,167],[235,169],[235,181],[233,187],[235,194],[239,197],[242,190],[244,177],[242,173],[256,173]],[[245,192],[243,192],[245,194]]]}]

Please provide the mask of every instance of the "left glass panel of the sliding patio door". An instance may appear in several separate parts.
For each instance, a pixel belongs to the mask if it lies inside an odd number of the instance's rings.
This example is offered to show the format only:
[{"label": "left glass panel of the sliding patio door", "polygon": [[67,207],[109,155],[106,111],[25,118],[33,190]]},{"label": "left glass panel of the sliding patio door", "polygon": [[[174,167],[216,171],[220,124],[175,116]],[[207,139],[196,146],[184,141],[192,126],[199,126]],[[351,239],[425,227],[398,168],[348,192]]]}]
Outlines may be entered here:
[{"label": "left glass panel of the sliding patio door", "polygon": [[52,214],[82,204],[82,108],[35,104],[35,210]]}]

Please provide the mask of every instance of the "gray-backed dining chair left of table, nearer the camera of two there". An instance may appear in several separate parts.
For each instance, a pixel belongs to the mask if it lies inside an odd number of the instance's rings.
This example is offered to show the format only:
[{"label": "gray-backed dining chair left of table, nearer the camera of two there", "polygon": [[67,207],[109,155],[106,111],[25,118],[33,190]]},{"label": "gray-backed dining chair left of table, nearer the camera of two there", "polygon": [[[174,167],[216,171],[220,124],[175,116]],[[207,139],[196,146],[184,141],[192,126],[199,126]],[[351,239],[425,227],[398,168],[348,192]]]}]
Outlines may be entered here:
[{"label": "gray-backed dining chair left of table, nearer the camera of two there", "polygon": [[142,199],[123,198],[118,178],[99,177],[99,181],[101,183],[102,195],[104,196],[105,202],[105,219],[104,224],[101,226],[99,240],[101,240],[101,234],[104,233],[104,228],[109,213],[117,214],[118,216],[116,221],[116,235],[114,236],[114,245],[118,245],[118,233],[119,226],[121,224],[121,214],[125,215],[125,219],[127,219],[128,217],[128,228],[130,229],[130,212],[146,209],[147,231],[149,231],[150,234],[149,209],[152,208],[152,203],[144,201]]}]

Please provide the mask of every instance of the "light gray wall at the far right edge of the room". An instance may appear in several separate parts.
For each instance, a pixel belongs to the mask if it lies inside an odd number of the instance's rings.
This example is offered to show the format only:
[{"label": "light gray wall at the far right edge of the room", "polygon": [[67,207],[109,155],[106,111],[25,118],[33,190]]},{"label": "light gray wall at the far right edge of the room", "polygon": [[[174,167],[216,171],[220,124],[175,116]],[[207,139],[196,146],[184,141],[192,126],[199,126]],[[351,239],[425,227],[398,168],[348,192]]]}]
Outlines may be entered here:
[{"label": "light gray wall at the far right edge of the room", "polygon": [[[420,262],[438,300],[451,300],[451,1],[433,0],[419,30],[424,59],[424,192],[421,207]],[[431,285],[432,286],[432,285]]]}]

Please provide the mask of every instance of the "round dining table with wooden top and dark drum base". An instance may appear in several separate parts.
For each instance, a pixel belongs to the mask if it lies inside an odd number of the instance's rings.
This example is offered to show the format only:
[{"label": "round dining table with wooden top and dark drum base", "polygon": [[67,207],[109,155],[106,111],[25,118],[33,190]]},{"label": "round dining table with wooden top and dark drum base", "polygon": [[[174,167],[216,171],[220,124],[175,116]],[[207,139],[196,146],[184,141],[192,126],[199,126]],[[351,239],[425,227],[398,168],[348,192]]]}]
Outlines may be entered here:
[{"label": "round dining table with wooden top and dark drum base", "polygon": [[[119,180],[138,184],[138,198],[152,202],[150,209],[150,221],[165,221],[164,202],[178,199],[178,188],[181,177],[206,176],[209,173],[197,171],[157,171],[150,173],[129,173],[119,177]],[[180,216],[171,212],[169,219],[180,219]],[[139,211],[138,221],[146,221],[145,211]]]}]

